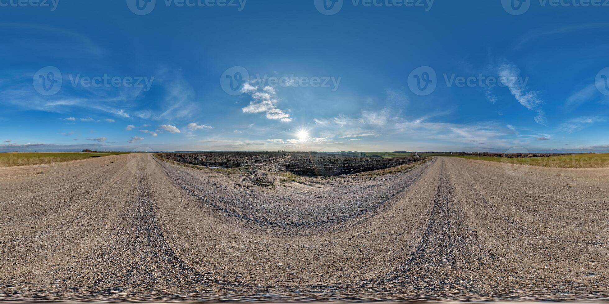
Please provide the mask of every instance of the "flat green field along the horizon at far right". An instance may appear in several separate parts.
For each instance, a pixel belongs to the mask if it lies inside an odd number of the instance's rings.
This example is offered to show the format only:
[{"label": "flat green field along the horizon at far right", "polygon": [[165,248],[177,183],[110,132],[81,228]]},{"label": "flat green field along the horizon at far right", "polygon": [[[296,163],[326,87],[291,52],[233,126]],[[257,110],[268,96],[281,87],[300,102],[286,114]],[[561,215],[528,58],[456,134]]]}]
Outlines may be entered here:
[{"label": "flat green field along the horizon at far right", "polygon": [[420,153],[420,156],[449,156],[507,164],[532,165],[551,168],[604,168],[609,167],[609,153],[571,154],[549,157],[491,157],[443,153]]}]

